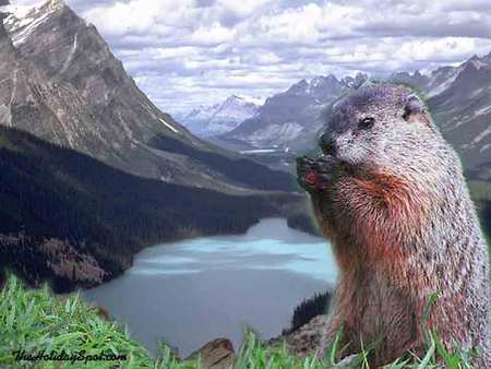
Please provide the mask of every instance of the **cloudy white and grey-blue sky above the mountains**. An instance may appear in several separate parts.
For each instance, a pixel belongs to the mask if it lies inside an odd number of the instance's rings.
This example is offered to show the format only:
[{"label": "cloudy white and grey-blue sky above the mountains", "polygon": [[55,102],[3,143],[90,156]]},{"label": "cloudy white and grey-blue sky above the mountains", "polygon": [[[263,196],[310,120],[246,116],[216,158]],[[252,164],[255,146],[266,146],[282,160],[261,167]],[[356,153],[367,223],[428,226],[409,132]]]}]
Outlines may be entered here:
[{"label": "cloudy white and grey-blue sky above the mountains", "polygon": [[[29,4],[33,0],[14,0]],[[165,110],[491,51],[490,0],[67,0]]]}]

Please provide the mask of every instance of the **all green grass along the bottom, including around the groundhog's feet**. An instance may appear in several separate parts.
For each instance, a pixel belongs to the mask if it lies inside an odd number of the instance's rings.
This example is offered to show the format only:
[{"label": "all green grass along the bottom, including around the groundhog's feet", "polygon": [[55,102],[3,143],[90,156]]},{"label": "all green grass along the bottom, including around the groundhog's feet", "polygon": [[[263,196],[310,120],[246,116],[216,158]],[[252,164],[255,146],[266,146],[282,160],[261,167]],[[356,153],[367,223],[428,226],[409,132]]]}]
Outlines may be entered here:
[{"label": "all green grass along the bottom, including around the groundhog's feet", "polygon": [[[161,345],[160,355],[155,359],[129,336],[122,325],[104,320],[95,308],[84,303],[76,295],[60,299],[47,286],[33,290],[14,276],[9,277],[0,293],[0,368],[202,368],[199,360],[180,361],[165,345]],[[386,368],[471,368],[467,353],[447,353],[435,335],[429,335],[428,341],[428,353],[423,358],[408,354]],[[244,342],[238,353],[237,369],[343,368],[336,361],[343,350],[338,347],[338,340],[322,361],[313,355],[304,358],[292,356],[285,344],[277,348],[266,347],[252,332],[246,333]],[[39,350],[45,350],[46,355],[64,352],[71,357],[83,350],[85,358],[104,354],[112,355],[112,358],[124,355],[125,359],[75,360],[73,364],[70,360],[15,361],[13,352],[21,348],[29,354]],[[363,352],[355,358],[355,368],[369,368],[367,355],[368,352]],[[444,366],[436,365],[439,358],[443,359]]]}]

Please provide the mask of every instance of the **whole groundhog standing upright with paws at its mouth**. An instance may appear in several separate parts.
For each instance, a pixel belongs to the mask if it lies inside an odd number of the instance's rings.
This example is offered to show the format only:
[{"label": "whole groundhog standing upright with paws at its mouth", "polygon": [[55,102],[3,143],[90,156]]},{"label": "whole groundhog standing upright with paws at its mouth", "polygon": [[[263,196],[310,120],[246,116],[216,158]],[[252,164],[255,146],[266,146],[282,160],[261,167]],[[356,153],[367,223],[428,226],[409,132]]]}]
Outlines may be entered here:
[{"label": "whole groundhog standing upright with paws at its mouth", "polygon": [[490,368],[488,247],[458,156],[406,86],[362,86],[326,117],[323,155],[297,159],[339,267],[321,354],[343,328],[344,355],[379,367],[424,355],[431,330]]}]

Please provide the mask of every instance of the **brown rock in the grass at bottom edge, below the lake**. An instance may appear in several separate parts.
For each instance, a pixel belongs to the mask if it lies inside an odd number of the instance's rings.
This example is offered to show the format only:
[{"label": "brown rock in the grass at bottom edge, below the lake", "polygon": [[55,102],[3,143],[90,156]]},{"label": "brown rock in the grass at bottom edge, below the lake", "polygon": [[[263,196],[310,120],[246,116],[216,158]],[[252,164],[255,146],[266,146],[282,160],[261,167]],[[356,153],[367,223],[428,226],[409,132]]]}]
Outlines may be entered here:
[{"label": "brown rock in the grass at bottom edge, below the lake", "polygon": [[236,356],[233,345],[229,340],[217,338],[191,354],[188,359],[196,359],[197,357],[201,357],[201,365],[204,368],[221,369],[230,368]]}]

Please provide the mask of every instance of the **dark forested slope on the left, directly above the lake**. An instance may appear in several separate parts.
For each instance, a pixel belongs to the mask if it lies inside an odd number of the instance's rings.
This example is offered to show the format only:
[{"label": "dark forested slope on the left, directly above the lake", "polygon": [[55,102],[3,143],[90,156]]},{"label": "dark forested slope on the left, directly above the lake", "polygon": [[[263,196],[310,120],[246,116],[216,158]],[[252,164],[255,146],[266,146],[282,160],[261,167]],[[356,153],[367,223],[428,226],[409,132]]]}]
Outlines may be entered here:
[{"label": "dark forested slope on the left, directly above the lake", "polygon": [[119,275],[148,245],[244,233],[302,200],[142,178],[4,127],[0,174],[0,276],[9,267],[33,285],[51,279],[58,291]]}]

